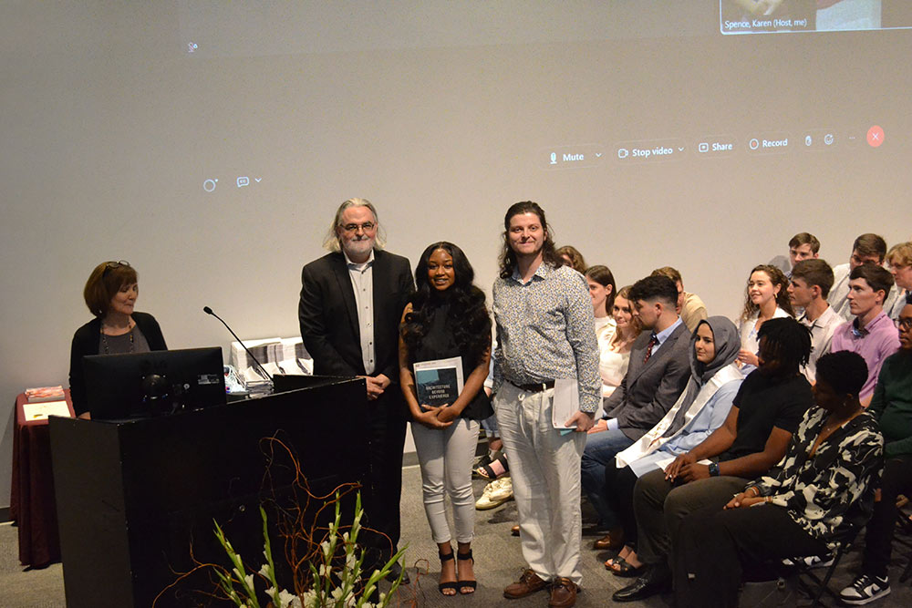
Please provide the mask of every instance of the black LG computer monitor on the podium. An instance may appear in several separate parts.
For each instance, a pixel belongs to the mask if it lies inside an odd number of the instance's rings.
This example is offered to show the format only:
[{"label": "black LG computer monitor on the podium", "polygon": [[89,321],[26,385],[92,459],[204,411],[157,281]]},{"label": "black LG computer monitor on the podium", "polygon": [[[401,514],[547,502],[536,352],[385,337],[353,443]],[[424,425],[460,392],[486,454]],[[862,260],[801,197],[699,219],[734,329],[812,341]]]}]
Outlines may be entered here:
[{"label": "black LG computer monitor on the podium", "polygon": [[93,420],[164,416],[224,404],[222,348],[186,348],[82,359]]}]

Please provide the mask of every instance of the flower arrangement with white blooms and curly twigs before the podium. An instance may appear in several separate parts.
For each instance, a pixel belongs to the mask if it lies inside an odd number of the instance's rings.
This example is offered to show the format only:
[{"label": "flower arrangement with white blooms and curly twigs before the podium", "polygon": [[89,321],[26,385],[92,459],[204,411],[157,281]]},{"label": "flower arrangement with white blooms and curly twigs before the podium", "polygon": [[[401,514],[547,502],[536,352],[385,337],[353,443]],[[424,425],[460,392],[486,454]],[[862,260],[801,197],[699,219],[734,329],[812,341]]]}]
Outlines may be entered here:
[{"label": "flower arrangement with white blooms and curly twigs before the podium", "polygon": [[[391,583],[387,593],[379,593],[378,583],[402,559],[406,548],[396,552],[381,567],[368,572],[373,562],[368,560],[368,566],[365,565],[365,551],[358,546],[358,536],[364,531],[379,532],[361,524],[364,510],[360,492],[355,494],[354,518],[350,525],[347,518],[343,522],[342,516],[342,498],[355,491],[358,485],[344,483],[326,496],[316,496],[291,448],[276,437],[263,438],[261,442],[267,460],[264,487],[282,488],[285,496],[290,489],[294,497],[292,504],[288,504],[287,499],[279,500],[274,494],[259,506],[264,562],[258,568],[249,561],[245,563],[222,526],[213,520],[215,538],[230,566],[197,561],[191,546],[195,566],[190,572],[180,573],[163,589],[153,602],[153,608],[171,589],[179,586],[186,589],[187,582],[196,572],[208,572],[213,586],[211,591],[198,589],[194,593],[226,600],[238,608],[380,608],[389,605],[399,589],[404,570]],[[279,454],[275,453],[276,448]],[[276,475],[278,479],[275,479]],[[315,500],[318,502],[313,505]],[[345,502],[350,504],[350,501]],[[270,511],[275,510],[274,519],[266,514],[270,505],[273,508]],[[335,509],[334,517],[325,527],[320,526],[318,522],[326,521],[324,512],[330,508]],[[276,538],[282,541],[278,570],[273,549]],[[216,547],[213,549],[217,551]],[[372,551],[368,554],[373,555]],[[280,580],[286,581],[288,588],[282,588]],[[397,603],[414,606],[415,599],[398,597]]]}]

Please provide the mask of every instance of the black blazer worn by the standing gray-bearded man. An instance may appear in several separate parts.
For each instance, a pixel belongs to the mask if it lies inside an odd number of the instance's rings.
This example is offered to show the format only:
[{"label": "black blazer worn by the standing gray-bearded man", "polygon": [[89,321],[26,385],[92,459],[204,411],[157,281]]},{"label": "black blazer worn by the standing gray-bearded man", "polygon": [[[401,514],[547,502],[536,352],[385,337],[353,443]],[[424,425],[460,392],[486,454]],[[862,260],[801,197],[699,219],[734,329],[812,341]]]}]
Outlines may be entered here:
[{"label": "black blazer worn by the standing gray-bearded man", "polygon": [[[415,290],[409,260],[374,250],[373,280],[374,374],[398,385],[399,320]],[[365,376],[355,291],[342,253],[328,253],[301,271],[297,315],[316,375]]]}]

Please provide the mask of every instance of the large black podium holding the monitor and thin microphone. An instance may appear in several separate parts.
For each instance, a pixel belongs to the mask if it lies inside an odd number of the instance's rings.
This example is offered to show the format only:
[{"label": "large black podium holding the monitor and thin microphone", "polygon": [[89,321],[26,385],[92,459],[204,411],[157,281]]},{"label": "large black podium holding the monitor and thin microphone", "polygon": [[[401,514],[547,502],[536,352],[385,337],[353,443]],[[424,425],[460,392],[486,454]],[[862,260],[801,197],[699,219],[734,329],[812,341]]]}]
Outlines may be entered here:
[{"label": "large black podium holding the monitor and thin microphone", "polygon": [[[313,386],[166,417],[52,417],[67,606],[221,605],[201,593],[214,589],[209,572],[160,593],[194,560],[229,564],[213,520],[256,570],[264,562],[261,501],[304,505],[282,450],[266,477],[264,448],[275,443],[264,438],[276,436],[295,452],[316,496],[364,479],[364,380],[309,376],[306,383]],[[309,509],[322,504],[311,500]],[[354,494],[343,509],[350,517]],[[284,541],[271,542],[278,565]]]}]

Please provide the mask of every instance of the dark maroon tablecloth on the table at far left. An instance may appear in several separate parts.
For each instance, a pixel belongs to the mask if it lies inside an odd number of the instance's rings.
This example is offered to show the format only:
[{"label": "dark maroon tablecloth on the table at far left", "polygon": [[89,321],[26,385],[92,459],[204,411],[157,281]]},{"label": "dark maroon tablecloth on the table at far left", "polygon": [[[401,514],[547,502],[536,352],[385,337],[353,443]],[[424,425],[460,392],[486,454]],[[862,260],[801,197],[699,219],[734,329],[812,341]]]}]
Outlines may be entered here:
[{"label": "dark maroon tablecloth on the table at far left", "polygon": [[[69,414],[73,416],[69,390],[66,397]],[[51,442],[47,419],[26,420],[23,412],[25,404],[25,393],[16,397],[9,512],[10,518],[19,527],[19,562],[42,568],[60,561]]]}]

